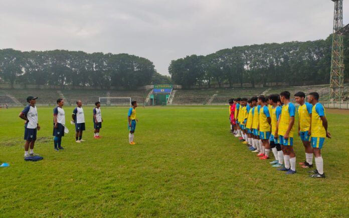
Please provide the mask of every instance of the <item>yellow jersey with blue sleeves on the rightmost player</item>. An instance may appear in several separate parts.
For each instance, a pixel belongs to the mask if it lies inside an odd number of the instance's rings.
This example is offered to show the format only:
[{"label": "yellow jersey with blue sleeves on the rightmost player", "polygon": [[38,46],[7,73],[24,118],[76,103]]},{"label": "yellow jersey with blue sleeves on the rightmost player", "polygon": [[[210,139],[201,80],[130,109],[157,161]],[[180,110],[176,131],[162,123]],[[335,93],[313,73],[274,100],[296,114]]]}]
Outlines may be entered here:
[{"label": "yellow jersey with blue sleeves on the rightmost player", "polygon": [[326,137],[320,116],[325,116],[325,108],[321,103],[316,103],[311,111],[311,137]]}]

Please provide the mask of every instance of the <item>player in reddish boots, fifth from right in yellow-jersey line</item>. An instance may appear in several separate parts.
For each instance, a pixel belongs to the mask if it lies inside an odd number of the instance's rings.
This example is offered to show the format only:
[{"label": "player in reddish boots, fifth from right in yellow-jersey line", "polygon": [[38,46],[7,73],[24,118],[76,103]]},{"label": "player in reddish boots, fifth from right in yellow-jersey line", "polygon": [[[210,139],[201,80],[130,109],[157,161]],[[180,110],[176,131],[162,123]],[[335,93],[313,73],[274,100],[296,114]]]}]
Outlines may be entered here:
[{"label": "player in reddish boots, fifth from right in yellow-jersey line", "polygon": [[260,156],[260,159],[269,159],[270,152],[270,123],[271,118],[268,109],[268,99],[264,95],[258,96],[258,103],[261,105],[259,111],[259,137],[262,140],[262,153],[257,154]]}]

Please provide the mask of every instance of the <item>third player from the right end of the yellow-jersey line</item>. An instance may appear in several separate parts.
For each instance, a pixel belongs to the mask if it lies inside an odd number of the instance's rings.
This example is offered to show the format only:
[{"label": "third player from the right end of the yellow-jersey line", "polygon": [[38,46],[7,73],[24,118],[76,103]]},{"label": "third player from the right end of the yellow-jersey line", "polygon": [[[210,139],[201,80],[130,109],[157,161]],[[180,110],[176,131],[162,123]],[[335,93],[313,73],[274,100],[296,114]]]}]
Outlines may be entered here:
[{"label": "third player from the right end of the yellow-jersey line", "polygon": [[294,104],[290,102],[290,95],[288,91],[282,91],[280,93],[280,99],[283,105],[278,122],[278,129],[275,132],[275,136],[279,136],[285,163],[285,166],[278,168],[278,170],[286,171],[286,174],[296,173],[296,154],[293,150],[293,124],[296,108]]}]

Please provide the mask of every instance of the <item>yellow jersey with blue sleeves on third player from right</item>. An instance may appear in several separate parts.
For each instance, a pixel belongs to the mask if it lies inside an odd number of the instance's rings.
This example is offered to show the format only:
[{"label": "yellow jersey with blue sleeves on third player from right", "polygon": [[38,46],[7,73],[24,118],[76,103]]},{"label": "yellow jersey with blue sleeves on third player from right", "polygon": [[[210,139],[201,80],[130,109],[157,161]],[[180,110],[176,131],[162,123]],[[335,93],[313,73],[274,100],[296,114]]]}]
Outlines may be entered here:
[{"label": "yellow jersey with blue sleeves on third player from right", "polygon": [[[282,135],[282,136],[285,135],[288,125],[290,123],[290,117],[294,116],[295,111],[296,111],[296,108],[292,102],[282,105],[281,117],[279,122],[279,130],[278,130],[279,135]],[[292,128],[289,132],[289,137],[293,137],[293,133],[294,133],[294,124],[292,125]]]}]

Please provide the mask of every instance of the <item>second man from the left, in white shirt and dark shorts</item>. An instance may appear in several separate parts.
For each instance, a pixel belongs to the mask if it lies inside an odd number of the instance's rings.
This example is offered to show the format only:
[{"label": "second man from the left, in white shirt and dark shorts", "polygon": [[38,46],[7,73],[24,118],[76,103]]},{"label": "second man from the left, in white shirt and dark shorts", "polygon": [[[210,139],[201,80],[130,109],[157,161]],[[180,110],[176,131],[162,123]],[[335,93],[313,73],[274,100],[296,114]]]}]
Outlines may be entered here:
[{"label": "second man from the left, in white shirt and dark shorts", "polygon": [[63,109],[64,100],[62,98],[57,99],[57,107],[53,109],[53,136],[55,150],[64,149],[61,146],[62,136],[64,136],[65,128],[65,112]]}]

